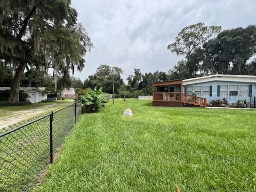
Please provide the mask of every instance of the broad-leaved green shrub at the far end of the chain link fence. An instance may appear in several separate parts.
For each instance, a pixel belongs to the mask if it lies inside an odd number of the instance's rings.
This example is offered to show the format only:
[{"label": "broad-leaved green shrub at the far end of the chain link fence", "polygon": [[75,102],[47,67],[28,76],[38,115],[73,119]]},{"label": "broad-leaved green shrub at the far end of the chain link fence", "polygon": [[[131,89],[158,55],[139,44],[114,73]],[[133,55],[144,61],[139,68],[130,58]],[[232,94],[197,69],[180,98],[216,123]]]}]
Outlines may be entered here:
[{"label": "broad-leaved green shrub at the far end of the chain link fence", "polygon": [[79,99],[82,100],[83,113],[97,112],[100,107],[105,106],[105,103],[108,102],[108,98],[108,94],[102,93],[102,87],[100,87],[99,90],[88,88],[83,91],[83,95],[79,95]]}]

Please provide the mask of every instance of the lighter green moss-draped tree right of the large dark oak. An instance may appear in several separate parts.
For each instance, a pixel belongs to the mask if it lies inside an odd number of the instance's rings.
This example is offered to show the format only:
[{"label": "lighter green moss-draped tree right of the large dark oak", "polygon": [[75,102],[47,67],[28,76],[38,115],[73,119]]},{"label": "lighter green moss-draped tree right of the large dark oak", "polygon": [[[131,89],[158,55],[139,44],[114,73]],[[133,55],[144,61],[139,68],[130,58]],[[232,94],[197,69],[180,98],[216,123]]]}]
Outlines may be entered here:
[{"label": "lighter green moss-draped tree right of the large dark oak", "polygon": [[[69,70],[72,70],[72,74],[74,74],[75,67],[81,71],[85,63],[83,56],[92,47],[85,29],[79,23],[74,26],[49,27],[44,35],[43,44],[46,47],[47,63],[54,69],[55,90],[60,85],[69,86],[68,82],[71,82]],[[58,81],[61,84],[57,85]]]}]

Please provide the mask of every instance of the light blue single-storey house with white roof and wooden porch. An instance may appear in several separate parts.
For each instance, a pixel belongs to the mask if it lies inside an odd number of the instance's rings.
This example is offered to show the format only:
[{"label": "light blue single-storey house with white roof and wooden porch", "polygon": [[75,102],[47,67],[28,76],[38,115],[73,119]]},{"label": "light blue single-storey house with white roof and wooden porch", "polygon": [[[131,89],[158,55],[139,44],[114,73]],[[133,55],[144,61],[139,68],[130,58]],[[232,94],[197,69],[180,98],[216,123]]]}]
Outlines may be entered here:
[{"label": "light blue single-storey house with white roof and wooden porch", "polygon": [[[151,85],[154,106],[205,107],[207,102],[223,98],[226,98],[229,103],[244,100],[250,102],[255,97],[256,76],[218,74],[154,82]],[[194,96],[193,93],[195,93]]]}]

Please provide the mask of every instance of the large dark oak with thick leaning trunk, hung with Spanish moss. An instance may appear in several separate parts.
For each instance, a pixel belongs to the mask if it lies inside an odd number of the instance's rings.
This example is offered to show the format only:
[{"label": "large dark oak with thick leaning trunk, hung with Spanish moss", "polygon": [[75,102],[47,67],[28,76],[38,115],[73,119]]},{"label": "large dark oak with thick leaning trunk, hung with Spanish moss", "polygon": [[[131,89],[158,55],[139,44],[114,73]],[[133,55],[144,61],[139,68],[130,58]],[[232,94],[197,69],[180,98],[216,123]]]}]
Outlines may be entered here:
[{"label": "large dark oak with thick leaning trunk, hung with Spanish moss", "polygon": [[[50,0],[1,2],[0,60],[4,61],[6,65],[16,68],[11,83],[10,101],[19,101],[19,87],[26,66],[41,65],[47,67],[48,54],[46,53],[49,50],[47,45],[42,43],[42,37],[45,33],[52,29],[54,36],[56,26],[65,28],[75,26],[77,13],[75,9],[70,7],[70,4],[70,0],[59,0],[58,3]],[[76,39],[79,39],[78,35]],[[65,46],[66,44],[60,45]],[[76,54],[82,55],[81,52],[84,53],[82,47]],[[77,62],[77,60],[75,61]],[[72,63],[72,61],[67,60],[67,64],[72,65]]]}]

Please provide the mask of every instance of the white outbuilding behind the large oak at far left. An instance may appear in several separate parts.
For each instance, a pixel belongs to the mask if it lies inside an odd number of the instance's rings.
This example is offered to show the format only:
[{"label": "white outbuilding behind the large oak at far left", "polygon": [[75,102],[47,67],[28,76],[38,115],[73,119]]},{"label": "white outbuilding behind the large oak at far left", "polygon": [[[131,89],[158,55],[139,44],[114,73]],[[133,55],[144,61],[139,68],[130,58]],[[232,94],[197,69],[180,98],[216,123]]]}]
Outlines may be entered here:
[{"label": "white outbuilding behind the large oak at far left", "polygon": [[[10,87],[0,87],[0,90],[10,90]],[[44,90],[38,89],[36,87],[20,87],[20,90],[28,93],[28,100],[31,103],[37,103],[47,99],[47,94],[44,92]]]}]

